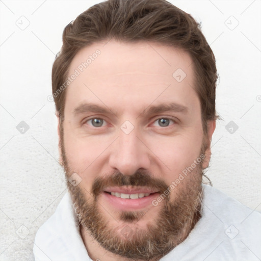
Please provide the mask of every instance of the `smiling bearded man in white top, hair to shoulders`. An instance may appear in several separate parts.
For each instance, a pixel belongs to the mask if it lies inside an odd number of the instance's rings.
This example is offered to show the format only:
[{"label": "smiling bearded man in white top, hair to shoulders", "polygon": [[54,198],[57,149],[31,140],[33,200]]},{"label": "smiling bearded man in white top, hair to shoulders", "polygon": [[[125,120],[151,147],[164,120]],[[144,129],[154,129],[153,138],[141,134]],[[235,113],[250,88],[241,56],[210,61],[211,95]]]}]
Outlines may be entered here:
[{"label": "smiling bearded man in white top, hair to shoulders", "polygon": [[35,260],[261,258],[261,215],[202,185],[216,81],[198,24],[165,0],[109,0],[69,23],[52,74],[69,193]]}]

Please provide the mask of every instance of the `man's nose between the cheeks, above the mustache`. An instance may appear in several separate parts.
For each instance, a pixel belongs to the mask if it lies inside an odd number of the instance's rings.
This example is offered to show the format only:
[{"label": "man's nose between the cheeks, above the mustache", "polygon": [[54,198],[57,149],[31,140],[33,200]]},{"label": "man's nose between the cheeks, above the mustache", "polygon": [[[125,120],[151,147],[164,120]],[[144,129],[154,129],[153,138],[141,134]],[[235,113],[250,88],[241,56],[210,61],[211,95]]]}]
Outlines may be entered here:
[{"label": "man's nose between the cheeks, above the mustache", "polygon": [[125,134],[120,130],[118,139],[111,147],[109,164],[124,175],[132,175],[138,170],[149,169],[149,149],[134,129]]}]

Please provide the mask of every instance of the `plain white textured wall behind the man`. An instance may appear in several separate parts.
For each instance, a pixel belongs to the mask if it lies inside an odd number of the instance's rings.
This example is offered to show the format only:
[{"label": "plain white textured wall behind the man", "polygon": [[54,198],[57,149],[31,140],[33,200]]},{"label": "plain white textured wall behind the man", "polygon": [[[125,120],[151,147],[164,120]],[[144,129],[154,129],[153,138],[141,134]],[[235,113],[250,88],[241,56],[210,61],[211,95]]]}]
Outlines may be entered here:
[{"label": "plain white textured wall behind the man", "polygon": [[[65,193],[55,107],[47,100],[51,66],[65,25],[98,2],[0,1],[1,261],[33,260],[35,233]],[[207,175],[216,188],[260,211],[260,0],[170,2],[201,21],[217,59],[223,121]],[[24,30],[17,26],[29,22]],[[21,121],[30,127],[24,134],[16,129]],[[225,128],[230,121],[239,126],[233,134]]]}]

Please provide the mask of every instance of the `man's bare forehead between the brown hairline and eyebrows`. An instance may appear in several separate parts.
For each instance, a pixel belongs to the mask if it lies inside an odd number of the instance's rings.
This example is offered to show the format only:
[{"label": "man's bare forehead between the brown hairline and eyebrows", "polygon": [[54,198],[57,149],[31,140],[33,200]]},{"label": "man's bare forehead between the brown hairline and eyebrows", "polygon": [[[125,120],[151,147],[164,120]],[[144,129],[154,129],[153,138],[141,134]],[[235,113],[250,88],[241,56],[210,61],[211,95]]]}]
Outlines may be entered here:
[{"label": "man's bare forehead between the brown hairline and eyebrows", "polygon": [[75,55],[68,77],[72,75],[76,76],[66,90],[65,111],[83,102],[105,103],[119,111],[122,106],[138,109],[152,102],[191,108],[199,102],[192,59],[185,51],[162,44],[113,39],[94,43]]}]

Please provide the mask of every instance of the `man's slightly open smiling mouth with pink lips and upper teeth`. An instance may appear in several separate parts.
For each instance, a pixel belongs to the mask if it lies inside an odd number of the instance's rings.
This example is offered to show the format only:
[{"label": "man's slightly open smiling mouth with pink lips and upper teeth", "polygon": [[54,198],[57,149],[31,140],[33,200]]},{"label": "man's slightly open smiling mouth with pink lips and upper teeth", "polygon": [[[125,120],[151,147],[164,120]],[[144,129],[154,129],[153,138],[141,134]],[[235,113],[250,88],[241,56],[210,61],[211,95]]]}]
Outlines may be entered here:
[{"label": "man's slightly open smiling mouth with pink lips and upper teeth", "polygon": [[106,203],[122,211],[137,211],[152,207],[152,200],[158,197],[159,191],[149,188],[130,189],[126,187],[106,188],[101,194]]}]

